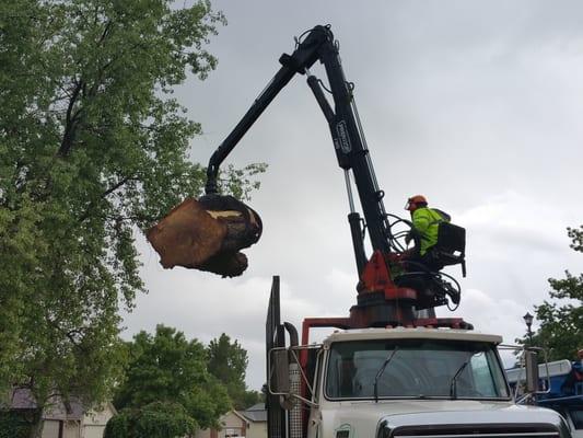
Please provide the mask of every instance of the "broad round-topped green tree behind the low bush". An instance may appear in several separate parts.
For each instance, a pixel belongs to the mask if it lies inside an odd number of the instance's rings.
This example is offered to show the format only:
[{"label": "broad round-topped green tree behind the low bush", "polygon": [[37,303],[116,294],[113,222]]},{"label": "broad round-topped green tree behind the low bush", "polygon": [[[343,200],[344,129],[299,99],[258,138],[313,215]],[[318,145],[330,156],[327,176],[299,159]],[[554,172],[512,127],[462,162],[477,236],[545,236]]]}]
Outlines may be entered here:
[{"label": "broad round-topped green tree behind the low bush", "polygon": [[226,389],[208,372],[205,346],[184,333],[158,325],[128,343],[126,379],[117,389],[116,408],[143,408],[153,402],[179,404],[199,427],[217,427],[229,411]]}]

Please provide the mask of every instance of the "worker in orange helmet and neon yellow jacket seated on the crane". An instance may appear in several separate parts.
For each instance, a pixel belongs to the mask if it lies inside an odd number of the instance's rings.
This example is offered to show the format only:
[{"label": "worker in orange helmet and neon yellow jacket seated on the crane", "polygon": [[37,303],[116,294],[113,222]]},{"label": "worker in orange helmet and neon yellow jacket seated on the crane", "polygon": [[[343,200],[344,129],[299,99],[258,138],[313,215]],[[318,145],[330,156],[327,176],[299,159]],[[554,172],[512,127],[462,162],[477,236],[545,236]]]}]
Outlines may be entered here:
[{"label": "worker in orange helmet and neon yellow jacket seated on the crane", "polygon": [[438,243],[440,222],[451,220],[450,215],[436,208],[429,208],[423,195],[407,199],[405,209],[411,214],[411,231],[405,238],[407,244],[415,241],[415,247],[404,253],[403,260],[421,263],[428,268],[435,268],[431,249]]}]

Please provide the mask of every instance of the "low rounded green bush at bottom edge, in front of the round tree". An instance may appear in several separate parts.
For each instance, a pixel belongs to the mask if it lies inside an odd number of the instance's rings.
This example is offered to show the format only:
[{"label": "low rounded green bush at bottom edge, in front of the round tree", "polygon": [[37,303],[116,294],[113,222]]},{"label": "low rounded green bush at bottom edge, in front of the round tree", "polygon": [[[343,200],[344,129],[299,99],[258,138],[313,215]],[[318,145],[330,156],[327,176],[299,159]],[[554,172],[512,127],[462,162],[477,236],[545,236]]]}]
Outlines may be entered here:
[{"label": "low rounded green bush at bottom edge, in front of the round tree", "polygon": [[180,404],[154,402],[120,411],[107,422],[104,438],[183,438],[196,429],[196,422]]}]

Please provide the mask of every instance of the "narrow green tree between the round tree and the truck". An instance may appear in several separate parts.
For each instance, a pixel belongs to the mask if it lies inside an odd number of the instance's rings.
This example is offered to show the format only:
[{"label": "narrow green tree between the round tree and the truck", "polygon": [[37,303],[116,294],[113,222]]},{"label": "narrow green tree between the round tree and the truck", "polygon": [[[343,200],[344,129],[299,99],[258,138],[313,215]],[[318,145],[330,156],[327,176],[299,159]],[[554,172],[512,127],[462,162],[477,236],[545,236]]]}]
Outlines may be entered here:
[{"label": "narrow green tree between the round tree and the truck", "polygon": [[221,334],[219,339],[212,339],[208,347],[209,372],[217,377],[225,387],[236,410],[249,407],[259,402],[260,393],[247,391],[245,374],[247,371],[247,351],[235,339]]}]

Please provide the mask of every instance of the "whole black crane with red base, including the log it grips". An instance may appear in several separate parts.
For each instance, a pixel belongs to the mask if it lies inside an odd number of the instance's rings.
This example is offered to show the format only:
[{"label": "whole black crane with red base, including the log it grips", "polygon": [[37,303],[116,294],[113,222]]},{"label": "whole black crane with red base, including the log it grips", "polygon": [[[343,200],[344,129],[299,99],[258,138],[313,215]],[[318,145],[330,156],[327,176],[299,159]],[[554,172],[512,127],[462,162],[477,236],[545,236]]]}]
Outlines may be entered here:
[{"label": "whole black crane with red base, including the log it grips", "polygon": [[[406,221],[385,211],[384,192],[378,188],[360,126],[352,94],[353,84],[345,78],[338,43],[334,39],[330,27],[315,26],[304,35],[305,38],[296,42],[291,55],[283,54],[280,57],[279,71],[210,158],[206,196],[198,200],[187,198],[176,206],[148,231],[148,240],[161,254],[164,267],[178,265],[228,277],[238,276],[245,270],[247,258],[240,250],[258,241],[263,229],[261,220],[250,207],[233,196],[218,194],[219,166],[291,79],[296,73],[305,74],[328,123],[338,164],[345,171],[350,204],[348,220],[359,281],[357,304],[350,309],[348,319],[308,319],[307,322],[304,321],[302,337],[310,326],[357,328],[398,324],[459,325],[459,321],[435,320],[432,310],[436,306],[446,304],[446,296],[452,297],[452,301],[459,302],[459,287],[456,292],[443,276],[455,285],[457,281],[446,274],[429,270],[421,263],[407,258],[409,254],[403,254],[404,247],[398,242],[398,238],[404,237],[406,231],[394,235],[392,233],[392,227]],[[324,66],[329,88],[310,72],[316,61]],[[330,102],[326,92],[331,94]],[[352,185],[358,191],[363,219],[354,208]],[[389,217],[396,220],[389,221]],[[370,257],[364,251],[366,229],[373,250]],[[439,239],[440,237],[438,243]],[[446,240],[447,244],[440,246],[444,250],[443,254],[450,257],[444,260],[443,266],[464,261],[463,253],[453,254],[458,247],[453,241],[454,239]],[[465,247],[465,234],[463,243]],[[445,251],[448,249],[452,251]],[[416,265],[420,267],[416,268]],[[423,320],[420,311],[430,319]]]}]

